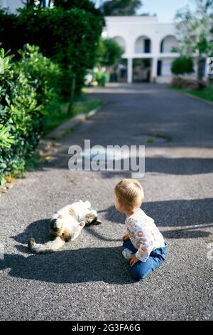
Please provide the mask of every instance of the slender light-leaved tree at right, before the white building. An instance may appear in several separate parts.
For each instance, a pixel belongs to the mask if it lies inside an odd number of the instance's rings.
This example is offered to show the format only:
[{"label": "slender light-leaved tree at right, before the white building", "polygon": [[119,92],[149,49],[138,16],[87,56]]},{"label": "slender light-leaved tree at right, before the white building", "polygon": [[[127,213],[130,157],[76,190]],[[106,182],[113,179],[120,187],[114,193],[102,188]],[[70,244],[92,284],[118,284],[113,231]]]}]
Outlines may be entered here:
[{"label": "slender light-leaved tree at right, before the white building", "polygon": [[195,0],[196,9],[191,11],[187,6],[175,15],[178,35],[178,48],[175,51],[185,56],[196,56],[197,79],[202,79],[203,60],[213,51],[212,35],[212,1]]}]

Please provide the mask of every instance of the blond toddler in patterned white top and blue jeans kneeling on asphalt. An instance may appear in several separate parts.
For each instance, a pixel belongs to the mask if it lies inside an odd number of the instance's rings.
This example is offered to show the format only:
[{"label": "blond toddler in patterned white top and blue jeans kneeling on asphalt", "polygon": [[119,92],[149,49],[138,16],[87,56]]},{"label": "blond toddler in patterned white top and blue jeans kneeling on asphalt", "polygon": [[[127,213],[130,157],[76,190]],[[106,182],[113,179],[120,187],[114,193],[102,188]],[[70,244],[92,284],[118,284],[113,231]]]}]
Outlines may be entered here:
[{"label": "blond toddler in patterned white top and blue jeans kneeling on asphalt", "polygon": [[121,180],[114,188],[114,195],[116,210],[126,215],[122,254],[129,261],[131,276],[145,279],[163,263],[167,244],[154,220],[140,208],[144,195],[138,180]]}]

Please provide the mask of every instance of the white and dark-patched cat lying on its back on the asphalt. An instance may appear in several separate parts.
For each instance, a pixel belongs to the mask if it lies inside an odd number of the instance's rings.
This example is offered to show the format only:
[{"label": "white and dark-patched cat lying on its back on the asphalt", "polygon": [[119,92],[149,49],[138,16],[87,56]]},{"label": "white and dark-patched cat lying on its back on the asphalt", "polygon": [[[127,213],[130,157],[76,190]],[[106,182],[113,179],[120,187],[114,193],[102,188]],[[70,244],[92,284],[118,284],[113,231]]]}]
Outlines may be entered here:
[{"label": "white and dark-patched cat lying on its back on the asphalt", "polygon": [[50,221],[50,234],[53,241],[40,244],[35,243],[33,237],[28,242],[28,248],[36,253],[54,252],[60,249],[65,242],[74,241],[82,231],[84,225],[98,225],[102,223],[97,218],[97,211],[91,209],[89,201],[73,202],[62,207]]}]

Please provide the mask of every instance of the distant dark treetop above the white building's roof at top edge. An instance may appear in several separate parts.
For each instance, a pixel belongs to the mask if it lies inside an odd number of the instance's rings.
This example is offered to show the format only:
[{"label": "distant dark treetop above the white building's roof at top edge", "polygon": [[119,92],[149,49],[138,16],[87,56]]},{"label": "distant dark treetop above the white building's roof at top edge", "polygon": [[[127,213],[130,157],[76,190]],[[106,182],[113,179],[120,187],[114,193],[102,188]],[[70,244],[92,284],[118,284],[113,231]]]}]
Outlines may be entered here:
[{"label": "distant dark treetop above the white building's roof at top edge", "polygon": [[100,9],[104,16],[134,15],[141,6],[141,0],[108,0]]}]

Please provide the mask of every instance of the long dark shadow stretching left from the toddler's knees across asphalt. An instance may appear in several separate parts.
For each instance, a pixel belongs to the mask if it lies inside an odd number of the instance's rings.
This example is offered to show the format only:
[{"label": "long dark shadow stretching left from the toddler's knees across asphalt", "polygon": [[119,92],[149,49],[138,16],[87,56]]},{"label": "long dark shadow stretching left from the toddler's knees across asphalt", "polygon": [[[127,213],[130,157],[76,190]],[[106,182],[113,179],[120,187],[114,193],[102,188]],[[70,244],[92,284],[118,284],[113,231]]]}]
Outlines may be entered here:
[{"label": "long dark shadow stretching left from the toddler's knees across asphalt", "polygon": [[107,282],[129,284],[131,279],[121,247],[83,248],[51,254],[5,254],[0,271],[11,269],[11,277],[58,284]]}]

